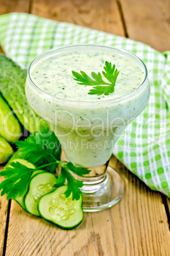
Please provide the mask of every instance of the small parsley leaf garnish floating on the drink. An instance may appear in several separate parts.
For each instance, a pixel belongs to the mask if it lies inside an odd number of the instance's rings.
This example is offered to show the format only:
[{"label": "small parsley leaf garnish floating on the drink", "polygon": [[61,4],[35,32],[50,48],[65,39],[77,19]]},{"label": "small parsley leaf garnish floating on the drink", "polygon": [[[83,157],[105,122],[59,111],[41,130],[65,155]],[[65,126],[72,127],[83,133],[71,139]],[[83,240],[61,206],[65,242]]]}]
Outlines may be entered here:
[{"label": "small parsley leaf garnish floating on the drink", "polygon": [[[112,66],[111,62],[105,61],[105,66],[103,67],[105,71],[102,71],[103,76],[108,80],[108,82],[105,82],[100,74],[100,72],[95,73],[91,72],[91,76],[88,76],[84,71],[80,71],[80,74],[78,72],[72,71],[72,75],[75,77],[73,78],[75,81],[79,82],[77,84],[79,85],[97,85],[93,87],[93,89],[89,90],[88,94],[91,95],[109,95],[114,92],[115,82],[117,80],[117,76],[119,75],[119,71],[115,69],[115,65]],[[101,86],[101,85],[107,85],[107,86]]]}]

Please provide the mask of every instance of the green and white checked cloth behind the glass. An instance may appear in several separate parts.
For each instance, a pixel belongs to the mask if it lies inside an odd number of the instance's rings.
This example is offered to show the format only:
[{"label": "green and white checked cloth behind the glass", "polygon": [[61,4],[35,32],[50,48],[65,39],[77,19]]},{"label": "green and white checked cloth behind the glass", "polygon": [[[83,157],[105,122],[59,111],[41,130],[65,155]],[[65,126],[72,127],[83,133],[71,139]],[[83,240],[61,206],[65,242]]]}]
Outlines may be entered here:
[{"label": "green and white checked cloth behind the glass", "polygon": [[145,62],[150,101],[121,136],[114,155],[148,187],[170,197],[170,52],[160,53],[131,39],[26,13],[0,17],[0,44],[23,69],[51,48],[88,43],[126,49]]}]

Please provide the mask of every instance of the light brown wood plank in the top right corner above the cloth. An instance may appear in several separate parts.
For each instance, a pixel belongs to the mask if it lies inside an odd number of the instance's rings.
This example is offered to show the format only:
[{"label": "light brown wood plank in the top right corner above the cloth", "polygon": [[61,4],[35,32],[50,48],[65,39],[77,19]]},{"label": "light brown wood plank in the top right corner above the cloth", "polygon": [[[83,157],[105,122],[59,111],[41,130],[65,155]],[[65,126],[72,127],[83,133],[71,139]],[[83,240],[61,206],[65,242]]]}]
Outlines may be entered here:
[{"label": "light brown wood plank in the top right corner above the cloth", "polygon": [[164,52],[170,49],[169,0],[119,0],[131,39]]}]

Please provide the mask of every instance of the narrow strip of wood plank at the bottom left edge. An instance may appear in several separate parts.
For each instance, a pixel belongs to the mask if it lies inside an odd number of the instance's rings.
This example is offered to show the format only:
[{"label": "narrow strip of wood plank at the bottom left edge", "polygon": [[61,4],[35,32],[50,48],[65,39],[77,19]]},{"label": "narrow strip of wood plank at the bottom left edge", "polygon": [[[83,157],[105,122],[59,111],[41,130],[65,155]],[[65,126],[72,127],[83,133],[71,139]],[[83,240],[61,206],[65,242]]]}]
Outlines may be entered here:
[{"label": "narrow strip of wood plank at the bottom left edge", "polygon": [[[0,166],[0,171],[3,169]],[[0,177],[0,183],[3,181],[3,178]],[[6,229],[6,219],[8,215],[8,201],[6,201],[6,197],[0,196],[0,255],[3,255],[3,248],[4,248],[4,234]]]}]

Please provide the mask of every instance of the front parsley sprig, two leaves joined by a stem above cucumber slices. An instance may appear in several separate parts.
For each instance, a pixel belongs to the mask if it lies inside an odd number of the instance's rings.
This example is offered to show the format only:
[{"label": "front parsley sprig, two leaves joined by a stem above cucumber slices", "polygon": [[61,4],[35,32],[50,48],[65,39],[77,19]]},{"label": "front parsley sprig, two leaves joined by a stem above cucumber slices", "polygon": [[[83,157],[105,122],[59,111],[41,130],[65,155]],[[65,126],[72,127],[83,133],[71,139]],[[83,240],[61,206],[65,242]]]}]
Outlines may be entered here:
[{"label": "front parsley sprig, two leaves joined by a stem above cucumber slices", "polygon": [[0,172],[0,176],[4,176],[4,178],[6,178],[6,180],[0,183],[0,191],[2,190],[1,196],[7,194],[7,199],[16,199],[17,197],[22,196],[25,192],[25,188],[27,188],[33,171],[36,171],[37,169],[44,169],[44,166],[60,164],[60,166],[62,166],[61,173],[54,187],[64,185],[65,180],[67,180],[65,196],[69,197],[70,194],[72,194],[73,200],[79,200],[82,194],[79,188],[83,186],[83,183],[82,181],[75,179],[74,176],[70,174],[70,171],[79,176],[84,176],[89,174],[90,170],[83,169],[82,167],[75,167],[71,162],[67,164],[63,164],[63,162],[65,161],[56,160],[56,162],[44,164],[36,169],[30,169],[23,164],[20,164],[20,162],[11,162],[10,166],[4,167],[4,171]]}]

